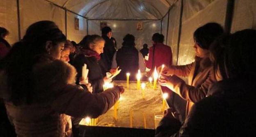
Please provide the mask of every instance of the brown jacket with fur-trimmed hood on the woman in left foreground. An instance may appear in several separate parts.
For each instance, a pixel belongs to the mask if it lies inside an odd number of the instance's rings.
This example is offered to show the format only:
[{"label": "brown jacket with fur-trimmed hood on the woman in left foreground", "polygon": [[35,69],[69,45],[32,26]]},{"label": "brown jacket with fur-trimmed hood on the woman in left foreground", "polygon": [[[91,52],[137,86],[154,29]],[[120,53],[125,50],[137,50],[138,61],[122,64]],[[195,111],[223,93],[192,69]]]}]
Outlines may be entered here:
[{"label": "brown jacket with fur-trimmed hood on the woman in left foreground", "polygon": [[75,68],[60,60],[47,59],[34,65],[31,104],[8,102],[7,75],[0,71],[0,97],[18,137],[70,137],[71,117],[98,117],[106,113],[120,95],[118,88],[91,94],[75,82]]}]

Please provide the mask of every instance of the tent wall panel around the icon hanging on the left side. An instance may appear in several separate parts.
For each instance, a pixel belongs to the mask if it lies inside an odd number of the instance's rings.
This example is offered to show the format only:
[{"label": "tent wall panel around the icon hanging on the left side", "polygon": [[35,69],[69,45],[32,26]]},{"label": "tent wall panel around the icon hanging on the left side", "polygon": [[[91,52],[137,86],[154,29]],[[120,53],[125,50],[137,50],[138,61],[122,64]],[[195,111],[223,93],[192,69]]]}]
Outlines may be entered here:
[{"label": "tent wall panel around the icon hanging on the left side", "polygon": [[[79,30],[75,29],[75,18],[79,19]],[[86,19],[67,12],[67,39],[79,43],[87,35]]]}]

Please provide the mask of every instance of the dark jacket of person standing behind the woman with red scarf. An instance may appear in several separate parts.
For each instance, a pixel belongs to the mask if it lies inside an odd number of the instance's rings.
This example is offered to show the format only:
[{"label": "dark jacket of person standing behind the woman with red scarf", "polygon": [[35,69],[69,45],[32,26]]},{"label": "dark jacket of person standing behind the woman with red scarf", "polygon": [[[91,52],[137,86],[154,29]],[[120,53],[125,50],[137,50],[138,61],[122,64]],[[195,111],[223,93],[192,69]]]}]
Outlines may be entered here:
[{"label": "dark jacket of person standing behind the woman with red scarf", "polygon": [[102,38],[105,40],[105,46],[103,49],[103,53],[101,54],[101,57],[107,63],[107,69],[110,70],[112,59],[113,59],[114,53],[116,52],[116,49],[115,49],[113,40],[108,38],[106,35],[103,35]]}]

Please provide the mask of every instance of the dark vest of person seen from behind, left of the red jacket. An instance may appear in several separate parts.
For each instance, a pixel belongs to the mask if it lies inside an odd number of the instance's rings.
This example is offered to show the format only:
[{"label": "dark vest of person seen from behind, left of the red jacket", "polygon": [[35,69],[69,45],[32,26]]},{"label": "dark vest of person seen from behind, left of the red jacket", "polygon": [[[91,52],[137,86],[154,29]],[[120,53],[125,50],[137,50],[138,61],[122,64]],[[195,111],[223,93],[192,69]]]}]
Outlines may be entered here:
[{"label": "dark vest of person seen from behind, left of the red jacket", "polygon": [[136,80],[134,74],[136,74],[139,69],[139,54],[135,47],[122,46],[122,48],[117,51],[116,61],[117,66],[122,70],[121,73],[117,75],[116,80],[126,80],[126,73],[128,72],[133,74],[130,76],[130,80]]}]

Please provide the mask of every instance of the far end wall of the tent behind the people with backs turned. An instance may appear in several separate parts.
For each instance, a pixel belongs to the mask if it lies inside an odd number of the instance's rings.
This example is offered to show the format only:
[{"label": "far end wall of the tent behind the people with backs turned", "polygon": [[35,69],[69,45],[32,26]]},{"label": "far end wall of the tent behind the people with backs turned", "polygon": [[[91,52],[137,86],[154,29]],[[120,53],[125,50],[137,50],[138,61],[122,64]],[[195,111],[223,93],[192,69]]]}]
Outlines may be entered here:
[{"label": "far end wall of the tent behind the people with backs turned", "polygon": [[[113,33],[112,37],[117,40],[117,49],[121,48],[123,37],[128,33],[135,36],[135,44],[137,49],[141,49],[144,43],[152,46],[152,35],[154,33],[160,33],[161,29],[161,21],[88,20],[89,35],[101,35],[100,22],[107,22],[107,26],[111,27]],[[137,22],[143,23],[142,31],[137,31]]]}]

